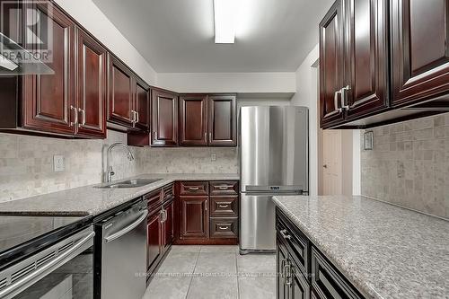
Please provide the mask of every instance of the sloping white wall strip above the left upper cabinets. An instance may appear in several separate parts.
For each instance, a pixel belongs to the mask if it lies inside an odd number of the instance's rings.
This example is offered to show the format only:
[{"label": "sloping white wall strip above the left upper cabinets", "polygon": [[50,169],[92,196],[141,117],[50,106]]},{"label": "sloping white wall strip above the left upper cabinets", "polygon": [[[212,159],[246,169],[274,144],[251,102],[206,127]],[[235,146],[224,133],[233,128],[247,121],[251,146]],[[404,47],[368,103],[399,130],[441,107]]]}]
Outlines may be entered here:
[{"label": "sloping white wall strip above the left upper cabinets", "polygon": [[123,60],[147,84],[156,84],[156,72],[92,0],[55,0],[77,22]]}]

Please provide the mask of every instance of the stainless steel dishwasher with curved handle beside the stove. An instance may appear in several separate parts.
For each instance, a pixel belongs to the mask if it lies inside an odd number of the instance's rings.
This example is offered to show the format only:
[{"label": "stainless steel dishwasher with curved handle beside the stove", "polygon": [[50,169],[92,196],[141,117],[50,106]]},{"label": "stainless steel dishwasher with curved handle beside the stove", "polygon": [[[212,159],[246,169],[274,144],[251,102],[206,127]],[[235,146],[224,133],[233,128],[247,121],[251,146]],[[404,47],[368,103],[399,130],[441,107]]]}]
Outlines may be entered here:
[{"label": "stainless steel dishwasher with curved handle beside the stove", "polygon": [[96,232],[101,234],[97,239],[101,246],[101,265],[96,265],[96,272],[101,273],[97,298],[141,299],[144,295],[146,215],[147,207],[140,200],[95,224]]}]

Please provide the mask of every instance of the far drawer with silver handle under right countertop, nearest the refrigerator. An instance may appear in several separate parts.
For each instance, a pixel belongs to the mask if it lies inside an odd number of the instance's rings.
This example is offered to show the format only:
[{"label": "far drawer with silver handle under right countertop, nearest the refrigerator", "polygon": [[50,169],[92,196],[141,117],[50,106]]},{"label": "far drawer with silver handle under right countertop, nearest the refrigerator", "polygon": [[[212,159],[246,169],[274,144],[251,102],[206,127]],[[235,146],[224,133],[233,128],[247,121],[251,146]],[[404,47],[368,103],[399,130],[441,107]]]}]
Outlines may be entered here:
[{"label": "far drawer with silver handle under right countertop, nearest the refrigerator", "polygon": [[304,273],[305,277],[309,273],[309,242],[303,233],[292,228],[293,224],[280,213],[277,213],[276,231],[277,238],[286,244],[295,263]]}]

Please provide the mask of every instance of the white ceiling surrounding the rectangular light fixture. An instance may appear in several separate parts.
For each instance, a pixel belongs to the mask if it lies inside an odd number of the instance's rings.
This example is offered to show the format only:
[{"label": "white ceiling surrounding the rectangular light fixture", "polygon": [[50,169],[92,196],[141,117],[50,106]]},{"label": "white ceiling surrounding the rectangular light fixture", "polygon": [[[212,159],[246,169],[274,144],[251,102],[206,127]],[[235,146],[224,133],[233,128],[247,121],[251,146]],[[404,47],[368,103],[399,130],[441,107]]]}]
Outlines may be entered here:
[{"label": "white ceiling surrounding the rectangular light fixture", "polygon": [[235,44],[214,43],[213,0],[93,0],[158,73],[291,72],[333,0],[237,0]]}]

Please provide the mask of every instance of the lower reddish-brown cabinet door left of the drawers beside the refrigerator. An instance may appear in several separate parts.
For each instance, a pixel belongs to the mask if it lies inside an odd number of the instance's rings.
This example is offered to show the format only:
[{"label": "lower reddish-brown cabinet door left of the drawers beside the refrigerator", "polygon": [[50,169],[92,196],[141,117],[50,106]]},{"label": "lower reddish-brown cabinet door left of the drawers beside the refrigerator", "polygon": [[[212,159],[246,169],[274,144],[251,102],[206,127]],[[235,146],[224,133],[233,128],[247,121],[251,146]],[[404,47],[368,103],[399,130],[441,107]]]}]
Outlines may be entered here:
[{"label": "lower reddish-brown cabinet door left of the drawers beside the refrigerator", "polygon": [[180,238],[200,239],[209,235],[207,197],[180,197]]}]

